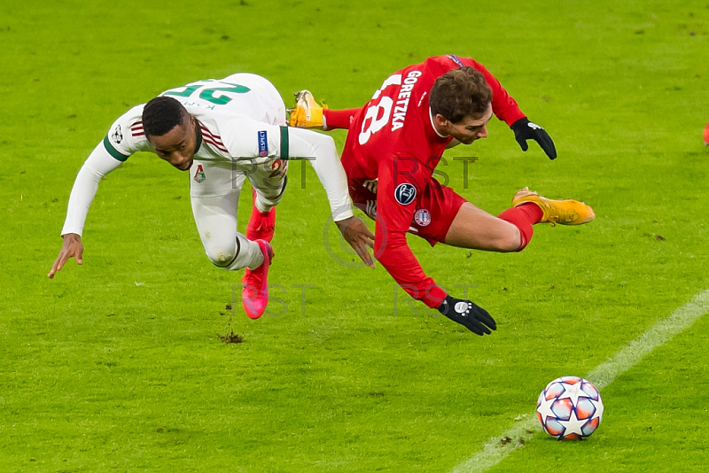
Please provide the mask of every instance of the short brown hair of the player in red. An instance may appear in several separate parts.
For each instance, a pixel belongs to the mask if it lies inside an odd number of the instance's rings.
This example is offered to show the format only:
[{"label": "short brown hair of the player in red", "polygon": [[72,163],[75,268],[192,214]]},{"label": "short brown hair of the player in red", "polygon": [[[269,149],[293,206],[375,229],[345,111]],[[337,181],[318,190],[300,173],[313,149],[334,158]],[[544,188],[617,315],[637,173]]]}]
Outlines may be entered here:
[{"label": "short brown hair of the player in red", "polygon": [[486,112],[492,99],[485,76],[474,67],[464,66],[436,79],[428,101],[433,116],[440,113],[446,120],[459,123],[469,115]]}]

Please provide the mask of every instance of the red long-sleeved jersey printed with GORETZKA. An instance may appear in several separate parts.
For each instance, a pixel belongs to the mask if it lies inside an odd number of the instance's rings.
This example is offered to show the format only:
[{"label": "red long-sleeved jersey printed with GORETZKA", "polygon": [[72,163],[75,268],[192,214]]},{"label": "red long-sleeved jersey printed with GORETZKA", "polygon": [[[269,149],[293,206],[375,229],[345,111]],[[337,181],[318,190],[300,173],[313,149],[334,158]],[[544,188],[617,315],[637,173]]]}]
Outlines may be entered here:
[{"label": "red long-sleeved jersey printed with GORETZKA", "polygon": [[428,96],[433,82],[462,66],[485,75],[493,91],[493,112],[508,125],[523,118],[517,102],[485,66],[471,58],[436,56],[392,74],[354,116],[342,151],[350,193],[357,186],[377,183],[377,223],[374,252],[378,261],[414,299],[432,308],[446,292],[418,263],[406,242],[415,211],[412,205],[432,179],[451,137],[440,136],[432,125]]}]

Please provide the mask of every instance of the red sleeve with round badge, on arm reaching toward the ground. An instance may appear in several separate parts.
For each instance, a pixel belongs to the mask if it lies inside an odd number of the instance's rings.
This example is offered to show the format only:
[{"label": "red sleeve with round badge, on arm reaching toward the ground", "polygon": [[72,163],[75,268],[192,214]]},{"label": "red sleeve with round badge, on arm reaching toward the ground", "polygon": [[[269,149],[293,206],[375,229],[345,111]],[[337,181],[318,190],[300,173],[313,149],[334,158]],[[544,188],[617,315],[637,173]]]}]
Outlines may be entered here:
[{"label": "red sleeve with round badge, on arm reaching toward the ground", "polygon": [[436,308],[446,298],[446,291],[425,275],[406,241],[417,194],[424,190],[431,174],[418,159],[394,156],[379,161],[374,254],[412,298]]}]

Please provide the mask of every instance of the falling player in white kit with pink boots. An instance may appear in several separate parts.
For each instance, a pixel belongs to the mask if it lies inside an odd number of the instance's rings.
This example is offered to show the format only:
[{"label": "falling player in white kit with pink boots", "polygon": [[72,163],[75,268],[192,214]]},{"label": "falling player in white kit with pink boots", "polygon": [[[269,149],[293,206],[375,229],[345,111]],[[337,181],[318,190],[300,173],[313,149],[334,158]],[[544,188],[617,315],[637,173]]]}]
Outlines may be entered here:
[{"label": "falling player in white kit with pink boots", "polygon": [[[82,263],[82,231],[101,178],[136,151],[151,151],[189,171],[191,205],[206,255],[215,266],[246,268],[244,308],[251,318],[268,303],[275,205],[287,182],[289,159],[308,159],[330,201],[332,219],[373,266],[373,235],[353,216],[347,177],[330,136],[288,128],[277,89],[255,74],[196,81],[166,90],[124,113],[91,152],[76,177],[61,235],[64,244],[49,277],[69,258]],[[238,197],[245,179],[254,192],[247,235],[237,230]],[[366,255],[366,256],[365,256]]]}]

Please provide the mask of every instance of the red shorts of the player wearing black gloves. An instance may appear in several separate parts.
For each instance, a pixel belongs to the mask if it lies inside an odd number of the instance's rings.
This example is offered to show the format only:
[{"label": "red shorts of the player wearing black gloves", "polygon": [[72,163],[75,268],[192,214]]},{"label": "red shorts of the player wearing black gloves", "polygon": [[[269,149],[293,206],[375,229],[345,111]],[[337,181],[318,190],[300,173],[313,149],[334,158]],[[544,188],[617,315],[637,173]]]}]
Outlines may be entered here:
[{"label": "red shorts of the player wearing black gloves", "polygon": [[[431,178],[431,181],[423,192],[417,193],[416,211],[409,233],[421,236],[433,246],[445,241],[450,224],[467,200],[449,187],[441,185],[435,178]],[[377,217],[377,182],[348,181],[348,184],[354,206],[374,220]]]}]

